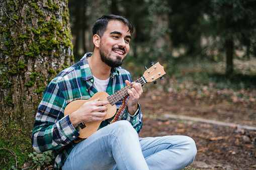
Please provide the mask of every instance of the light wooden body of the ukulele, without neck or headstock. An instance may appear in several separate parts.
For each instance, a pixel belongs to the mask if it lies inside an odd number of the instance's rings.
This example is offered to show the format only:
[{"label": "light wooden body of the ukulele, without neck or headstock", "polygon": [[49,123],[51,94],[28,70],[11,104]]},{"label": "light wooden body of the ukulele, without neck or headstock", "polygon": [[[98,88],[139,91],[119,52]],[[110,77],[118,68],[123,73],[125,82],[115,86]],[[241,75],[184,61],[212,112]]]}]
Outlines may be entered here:
[{"label": "light wooden body of the ukulele, without neck or headstock", "polygon": [[[107,100],[108,96],[109,96],[108,93],[100,91],[100,92],[95,93],[95,95],[89,100],[74,100],[66,106],[66,108],[64,110],[64,115],[66,116],[68,114],[71,114],[72,112],[79,109],[84,103],[86,103],[88,101],[95,100],[97,98],[100,98],[100,100]],[[107,113],[104,116],[103,120],[113,117],[117,111],[115,104],[114,105],[107,104],[106,107],[107,107],[107,110],[106,110]],[[84,127],[83,129],[81,129],[81,127],[79,127],[80,128],[79,137],[80,138],[88,138],[89,136],[91,136],[94,132],[96,132],[98,130],[98,128],[100,127],[100,124],[103,120],[83,122],[86,125],[86,127]]]}]

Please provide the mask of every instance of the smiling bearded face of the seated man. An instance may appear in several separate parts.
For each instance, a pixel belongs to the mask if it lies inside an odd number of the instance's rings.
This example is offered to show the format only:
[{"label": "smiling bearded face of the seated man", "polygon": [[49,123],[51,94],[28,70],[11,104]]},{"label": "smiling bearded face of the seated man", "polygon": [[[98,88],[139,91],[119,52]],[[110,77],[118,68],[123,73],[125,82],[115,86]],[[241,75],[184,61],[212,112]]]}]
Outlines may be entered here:
[{"label": "smiling bearded face of the seated man", "polygon": [[109,21],[99,46],[102,61],[109,67],[119,67],[130,50],[131,34],[120,21]]}]

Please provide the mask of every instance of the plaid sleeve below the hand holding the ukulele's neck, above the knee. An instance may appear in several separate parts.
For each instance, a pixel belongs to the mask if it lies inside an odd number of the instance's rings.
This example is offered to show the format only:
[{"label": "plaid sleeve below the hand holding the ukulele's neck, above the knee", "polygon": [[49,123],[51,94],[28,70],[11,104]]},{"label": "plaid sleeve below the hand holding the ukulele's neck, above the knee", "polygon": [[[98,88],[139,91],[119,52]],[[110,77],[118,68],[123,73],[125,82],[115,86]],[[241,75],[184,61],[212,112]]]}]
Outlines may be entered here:
[{"label": "plaid sleeve below the hand holding the ukulele's neck, above the knee", "polygon": [[126,107],[125,114],[122,119],[129,121],[133,126],[133,128],[137,131],[137,133],[139,133],[142,127],[142,113],[141,113],[139,103],[138,103],[138,109],[134,115],[130,115]]}]

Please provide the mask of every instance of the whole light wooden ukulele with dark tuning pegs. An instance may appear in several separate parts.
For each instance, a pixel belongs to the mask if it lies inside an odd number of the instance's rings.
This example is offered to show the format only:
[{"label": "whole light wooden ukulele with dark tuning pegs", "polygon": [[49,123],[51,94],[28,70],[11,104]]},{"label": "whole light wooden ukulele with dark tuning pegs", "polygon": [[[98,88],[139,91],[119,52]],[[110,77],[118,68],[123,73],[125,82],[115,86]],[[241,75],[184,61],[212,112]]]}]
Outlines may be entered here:
[{"label": "whole light wooden ukulele with dark tuning pegs", "polygon": [[[151,63],[151,65],[153,65],[153,64],[154,63]],[[145,67],[145,69],[147,69],[147,67]],[[153,65],[152,67],[147,69],[144,72],[143,76],[141,76],[135,82],[143,85],[147,82],[154,81],[154,84],[156,84],[155,80],[159,77],[161,77],[161,80],[162,80],[163,79],[162,75],[164,75],[164,74],[165,74],[165,72],[163,70],[163,66],[161,66],[157,62],[155,65]],[[125,86],[124,88],[118,90],[117,92],[115,92],[112,95],[109,95],[108,93],[106,93],[104,91],[100,91],[100,92],[95,93],[93,95],[93,97],[90,98],[89,100],[74,100],[66,106],[66,108],[64,110],[64,115],[66,116],[66,115],[76,111],[81,105],[83,105],[84,103],[86,103],[88,101],[100,98],[101,101],[104,101],[104,100],[109,101],[109,104],[106,105],[107,113],[104,116],[103,120],[109,119],[116,114],[117,108],[116,108],[115,103],[117,103],[123,97],[127,96],[128,95],[127,91],[128,91],[128,89],[131,89],[131,88],[132,88],[132,84],[129,84],[129,85]],[[98,128],[100,127],[100,124],[103,120],[95,120],[95,121],[90,121],[90,122],[79,123],[78,124],[78,126],[80,128],[79,137],[80,138],[88,138],[89,136],[91,136],[94,132],[96,132],[98,130]]]}]

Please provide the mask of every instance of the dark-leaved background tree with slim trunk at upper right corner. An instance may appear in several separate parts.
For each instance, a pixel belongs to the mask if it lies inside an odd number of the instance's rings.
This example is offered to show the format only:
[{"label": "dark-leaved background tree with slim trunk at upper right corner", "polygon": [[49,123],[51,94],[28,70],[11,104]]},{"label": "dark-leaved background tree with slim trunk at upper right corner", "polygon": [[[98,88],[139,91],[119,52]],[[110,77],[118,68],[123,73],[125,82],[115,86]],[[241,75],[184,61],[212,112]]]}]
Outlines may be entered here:
[{"label": "dark-leaved background tree with slim trunk at upper right corner", "polygon": [[[218,42],[218,50],[223,49],[226,55],[226,75],[233,73],[234,50],[246,47],[247,57],[255,56],[256,1],[255,0],[214,0],[207,16],[207,37]],[[204,23],[205,24],[205,23]],[[223,47],[223,48],[222,48]]]}]

